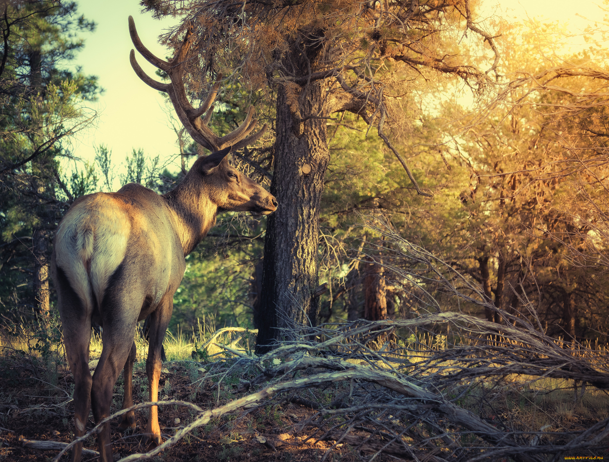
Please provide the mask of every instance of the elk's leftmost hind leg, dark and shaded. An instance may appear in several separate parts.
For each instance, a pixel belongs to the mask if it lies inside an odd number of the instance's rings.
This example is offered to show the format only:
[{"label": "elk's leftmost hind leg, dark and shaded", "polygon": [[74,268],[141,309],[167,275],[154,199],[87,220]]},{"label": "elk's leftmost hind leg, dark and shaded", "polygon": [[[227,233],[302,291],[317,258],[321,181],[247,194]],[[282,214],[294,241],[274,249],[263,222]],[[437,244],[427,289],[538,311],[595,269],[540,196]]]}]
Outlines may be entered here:
[{"label": "elk's leftmost hind leg, dark and shaded", "polygon": [[[85,425],[91,409],[91,373],[89,371],[89,343],[91,341],[91,314],[74,292],[62,268],[55,278],[59,313],[62,318],[66,357],[74,375],[74,437],[85,434]],[[82,443],[72,449],[72,462],[79,462]]]}]

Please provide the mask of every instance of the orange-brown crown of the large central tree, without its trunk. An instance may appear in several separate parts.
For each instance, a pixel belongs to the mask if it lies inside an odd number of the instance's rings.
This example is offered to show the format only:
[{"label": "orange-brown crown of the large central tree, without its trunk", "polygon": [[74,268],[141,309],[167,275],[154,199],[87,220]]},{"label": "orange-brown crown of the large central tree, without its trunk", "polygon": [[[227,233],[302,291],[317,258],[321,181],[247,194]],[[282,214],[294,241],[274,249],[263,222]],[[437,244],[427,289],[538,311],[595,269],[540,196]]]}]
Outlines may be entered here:
[{"label": "orange-brown crown of the large central tree, without its trunk", "polygon": [[[404,80],[437,72],[456,75],[481,91],[496,80],[498,50],[494,37],[472,19],[470,0],[406,1],[143,1],[156,16],[180,17],[162,37],[177,51],[191,31],[186,64],[189,89],[204,98],[218,74],[239,80],[250,92],[281,86],[294,117],[303,114],[303,88],[325,80],[324,114],[351,111],[379,135],[404,168],[406,163],[383,133],[404,122],[392,96]],[[490,54],[461,54],[459,38],[473,33]],[[484,47],[483,47],[484,48]],[[194,51],[194,52],[192,52]],[[410,72],[390,68],[403,63]],[[395,66],[394,66],[395,67]],[[211,83],[211,82],[209,82]],[[409,177],[414,181],[412,175]]]}]

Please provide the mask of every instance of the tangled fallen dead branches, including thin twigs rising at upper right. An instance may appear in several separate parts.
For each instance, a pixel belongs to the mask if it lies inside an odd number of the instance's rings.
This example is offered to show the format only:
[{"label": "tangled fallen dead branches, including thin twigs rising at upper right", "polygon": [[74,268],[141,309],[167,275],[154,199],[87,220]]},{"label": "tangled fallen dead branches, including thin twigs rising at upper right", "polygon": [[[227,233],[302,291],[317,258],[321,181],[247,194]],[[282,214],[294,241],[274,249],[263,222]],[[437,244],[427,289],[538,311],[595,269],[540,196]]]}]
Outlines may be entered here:
[{"label": "tangled fallen dead branches, including thin twigs rising at upper right", "polygon": [[[217,383],[216,407],[205,410],[189,402],[163,401],[110,416],[105,421],[157,404],[195,411],[163,444],[121,462],[153,457],[227,413],[247,418],[260,408],[287,403],[311,408],[308,419],[289,429],[300,436],[300,444],[334,441],[322,461],[340,444],[348,444],[367,461],[385,453],[432,462],[558,461],[569,453],[597,455],[607,447],[609,418],[567,428],[555,410],[543,404],[544,393],[556,389],[539,385],[542,380],[562,380],[575,390],[575,405],[578,386],[582,394],[586,385],[594,393],[609,389],[604,355],[575,342],[565,348],[548,337],[524,296],[524,314],[500,310],[471,279],[401,239],[388,225],[368,227],[392,244],[382,252],[395,256],[384,263],[396,275],[393,283],[437,281],[438,292],[493,310],[501,323],[440,312],[432,295],[421,289],[421,304],[429,313],[413,319],[301,326],[299,332],[284,332],[290,340],[260,357],[236,349],[236,342],[216,343],[230,357],[206,363],[205,377],[192,384]],[[399,259],[406,263],[388,263]],[[421,333],[435,340],[421,341]],[[221,387],[229,388],[228,380],[234,377],[241,379],[233,382],[234,399],[220,403]]]}]

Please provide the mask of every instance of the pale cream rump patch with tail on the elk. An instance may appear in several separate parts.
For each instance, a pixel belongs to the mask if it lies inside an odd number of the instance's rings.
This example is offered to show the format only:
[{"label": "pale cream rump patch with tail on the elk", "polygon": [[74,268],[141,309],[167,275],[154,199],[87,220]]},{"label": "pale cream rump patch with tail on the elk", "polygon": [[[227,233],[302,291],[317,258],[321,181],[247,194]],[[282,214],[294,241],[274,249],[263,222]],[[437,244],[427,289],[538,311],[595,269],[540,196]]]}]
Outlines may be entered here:
[{"label": "pale cream rump patch with tail on the elk", "polygon": [[127,212],[103,192],[88,196],[62,220],[55,240],[57,266],[87,310],[93,309],[91,292],[101,302],[108,279],[125,256],[130,231]]}]

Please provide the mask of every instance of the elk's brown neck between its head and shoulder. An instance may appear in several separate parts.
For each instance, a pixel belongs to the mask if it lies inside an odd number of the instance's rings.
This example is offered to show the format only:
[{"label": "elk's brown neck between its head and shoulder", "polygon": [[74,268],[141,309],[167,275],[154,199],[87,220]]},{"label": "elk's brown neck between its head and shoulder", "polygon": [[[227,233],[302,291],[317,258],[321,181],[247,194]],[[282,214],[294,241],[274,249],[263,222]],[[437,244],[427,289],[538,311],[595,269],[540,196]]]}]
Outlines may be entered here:
[{"label": "elk's brown neck between its head and shoulder", "polygon": [[191,253],[209,228],[216,224],[218,213],[218,206],[211,201],[206,188],[195,183],[200,183],[200,180],[186,175],[173,191],[163,195],[169,209],[174,212],[175,231],[184,256]]}]

